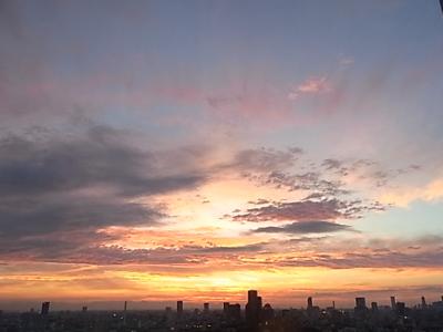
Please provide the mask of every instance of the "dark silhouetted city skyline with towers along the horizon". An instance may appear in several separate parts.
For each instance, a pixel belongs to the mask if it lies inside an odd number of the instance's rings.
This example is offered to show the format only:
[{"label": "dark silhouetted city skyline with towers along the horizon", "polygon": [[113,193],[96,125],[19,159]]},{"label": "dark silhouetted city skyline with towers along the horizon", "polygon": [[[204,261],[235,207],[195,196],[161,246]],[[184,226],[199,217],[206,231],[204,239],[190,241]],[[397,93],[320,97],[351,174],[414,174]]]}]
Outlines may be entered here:
[{"label": "dark silhouetted city skyline with towers along the horizon", "polygon": [[51,303],[42,302],[40,311],[0,311],[0,332],[289,332],[289,331],[443,331],[443,295],[427,303],[421,297],[418,304],[390,298],[390,305],[356,298],[353,309],[316,305],[307,299],[306,308],[275,309],[262,304],[257,290],[247,292],[247,303],[224,302],[223,310],[213,310],[209,302],[185,310],[178,300],[176,308],[165,310],[130,310],[128,302],[120,311],[94,311],[86,305],[79,311],[51,311]]}]

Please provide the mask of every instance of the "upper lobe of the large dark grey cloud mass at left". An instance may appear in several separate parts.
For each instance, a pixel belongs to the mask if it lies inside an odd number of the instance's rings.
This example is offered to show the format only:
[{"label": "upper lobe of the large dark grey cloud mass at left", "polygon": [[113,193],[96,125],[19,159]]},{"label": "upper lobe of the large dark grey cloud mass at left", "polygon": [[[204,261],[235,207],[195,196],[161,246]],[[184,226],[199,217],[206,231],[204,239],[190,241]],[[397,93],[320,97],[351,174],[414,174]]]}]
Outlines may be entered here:
[{"label": "upper lobe of the large dark grey cloud mass at left", "polygon": [[3,137],[0,195],[43,195],[106,186],[119,195],[136,196],[186,188],[202,180],[193,174],[162,174],[153,153],[122,139],[109,127],[94,127],[86,137],[73,141]]}]

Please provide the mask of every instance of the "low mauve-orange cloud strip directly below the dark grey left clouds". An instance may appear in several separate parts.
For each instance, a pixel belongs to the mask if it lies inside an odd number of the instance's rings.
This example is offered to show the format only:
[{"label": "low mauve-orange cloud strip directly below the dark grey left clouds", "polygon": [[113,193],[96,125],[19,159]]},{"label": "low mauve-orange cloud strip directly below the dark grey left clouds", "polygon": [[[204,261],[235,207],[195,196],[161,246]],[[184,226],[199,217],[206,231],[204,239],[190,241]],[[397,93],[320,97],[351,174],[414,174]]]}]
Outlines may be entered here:
[{"label": "low mauve-orange cloud strip directly below the dark grey left clouds", "polygon": [[[66,239],[66,237],[71,237]],[[13,261],[47,261],[87,264],[194,264],[209,260],[239,260],[239,256],[257,255],[266,243],[244,246],[197,246],[126,248],[106,245],[117,237],[105,234],[87,235],[83,231],[58,232],[53,236],[33,237],[0,247],[0,257]],[[50,241],[48,241],[50,240]]]}]

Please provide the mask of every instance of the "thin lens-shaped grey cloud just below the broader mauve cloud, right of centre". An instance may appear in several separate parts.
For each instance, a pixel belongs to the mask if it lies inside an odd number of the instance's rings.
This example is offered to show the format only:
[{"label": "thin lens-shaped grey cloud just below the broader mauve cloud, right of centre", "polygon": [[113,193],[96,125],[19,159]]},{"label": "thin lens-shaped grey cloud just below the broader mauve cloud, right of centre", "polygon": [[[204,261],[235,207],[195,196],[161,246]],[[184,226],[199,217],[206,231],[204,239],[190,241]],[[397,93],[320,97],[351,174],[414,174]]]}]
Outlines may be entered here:
[{"label": "thin lens-shaped grey cloud just below the broader mauve cloud, right of centre", "polygon": [[299,221],[284,226],[260,227],[254,229],[254,232],[284,232],[284,234],[322,234],[352,230],[348,225],[330,221]]}]

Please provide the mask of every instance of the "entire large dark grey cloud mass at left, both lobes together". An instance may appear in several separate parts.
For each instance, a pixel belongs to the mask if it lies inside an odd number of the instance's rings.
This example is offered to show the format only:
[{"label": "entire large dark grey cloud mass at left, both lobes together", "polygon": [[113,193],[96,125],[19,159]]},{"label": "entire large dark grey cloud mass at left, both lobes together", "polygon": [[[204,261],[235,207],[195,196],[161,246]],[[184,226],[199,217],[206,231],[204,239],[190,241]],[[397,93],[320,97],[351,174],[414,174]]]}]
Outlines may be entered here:
[{"label": "entire large dark grey cloud mass at left, both lobes together", "polygon": [[[175,155],[175,156],[174,156]],[[176,157],[183,160],[167,165]],[[0,238],[106,226],[153,225],[164,212],[140,197],[205,180],[195,155],[142,151],[124,133],[95,126],[83,137],[0,141]],[[1,245],[0,245],[1,246]]]}]

